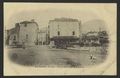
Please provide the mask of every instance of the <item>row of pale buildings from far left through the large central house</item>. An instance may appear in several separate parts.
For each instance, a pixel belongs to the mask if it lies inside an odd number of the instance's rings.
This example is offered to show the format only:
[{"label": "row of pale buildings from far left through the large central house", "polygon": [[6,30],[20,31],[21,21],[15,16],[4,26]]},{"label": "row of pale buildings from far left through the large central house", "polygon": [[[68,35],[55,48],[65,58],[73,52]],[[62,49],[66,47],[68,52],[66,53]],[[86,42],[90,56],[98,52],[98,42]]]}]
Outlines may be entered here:
[{"label": "row of pale buildings from far left through the large central house", "polygon": [[[92,35],[94,34],[92,33]],[[66,48],[84,40],[81,37],[81,21],[78,19],[55,18],[49,20],[48,26],[42,29],[39,29],[37,22],[31,20],[16,23],[14,28],[7,30],[6,44],[55,45]]]}]

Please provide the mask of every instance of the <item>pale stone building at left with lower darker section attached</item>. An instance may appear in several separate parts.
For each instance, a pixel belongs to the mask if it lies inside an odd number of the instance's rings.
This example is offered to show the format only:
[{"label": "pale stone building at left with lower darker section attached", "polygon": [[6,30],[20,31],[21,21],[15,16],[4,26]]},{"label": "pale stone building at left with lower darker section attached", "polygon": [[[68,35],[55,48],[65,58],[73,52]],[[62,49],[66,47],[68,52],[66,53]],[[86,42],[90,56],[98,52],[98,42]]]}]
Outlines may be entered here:
[{"label": "pale stone building at left with lower darker section attached", "polygon": [[34,20],[16,23],[15,28],[7,30],[7,43],[9,45],[35,45],[38,31],[38,24]]}]

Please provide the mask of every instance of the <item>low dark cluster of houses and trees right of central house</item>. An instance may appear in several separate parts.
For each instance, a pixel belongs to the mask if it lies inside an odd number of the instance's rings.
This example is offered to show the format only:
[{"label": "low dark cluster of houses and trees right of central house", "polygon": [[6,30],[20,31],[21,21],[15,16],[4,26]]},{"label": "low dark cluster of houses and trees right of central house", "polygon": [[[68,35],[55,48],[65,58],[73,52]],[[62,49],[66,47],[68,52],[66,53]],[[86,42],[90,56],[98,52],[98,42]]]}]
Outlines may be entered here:
[{"label": "low dark cluster of houses and trees right of central house", "polygon": [[81,46],[103,46],[109,43],[106,31],[87,32],[86,34],[82,34],[80,40]]}]

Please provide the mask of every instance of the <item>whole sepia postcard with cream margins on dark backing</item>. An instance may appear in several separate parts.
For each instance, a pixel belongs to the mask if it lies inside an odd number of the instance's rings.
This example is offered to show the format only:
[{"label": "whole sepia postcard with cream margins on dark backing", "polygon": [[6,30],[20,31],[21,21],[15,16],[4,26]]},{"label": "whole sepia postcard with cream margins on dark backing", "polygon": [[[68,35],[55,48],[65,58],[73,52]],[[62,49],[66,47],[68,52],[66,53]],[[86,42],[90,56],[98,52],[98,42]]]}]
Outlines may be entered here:
[{"label": "whole sepia postcard with cream margins on dark backing", "polygon": [[116,75],[115,3],[4,3],[4,75]]}]

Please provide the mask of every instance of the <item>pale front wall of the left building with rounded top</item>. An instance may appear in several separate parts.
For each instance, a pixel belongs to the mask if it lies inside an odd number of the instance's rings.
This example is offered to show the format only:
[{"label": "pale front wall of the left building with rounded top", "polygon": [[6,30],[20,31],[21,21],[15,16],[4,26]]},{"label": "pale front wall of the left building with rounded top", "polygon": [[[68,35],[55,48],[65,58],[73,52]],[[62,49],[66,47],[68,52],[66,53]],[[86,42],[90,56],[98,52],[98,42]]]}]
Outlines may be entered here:
[{"label": "pale front wall of the left building with rounded top", "polygon": [[26,45],[35,45],[37,40],[38,26],[36,23],[20,24],[19,42],[26,42]]}]

